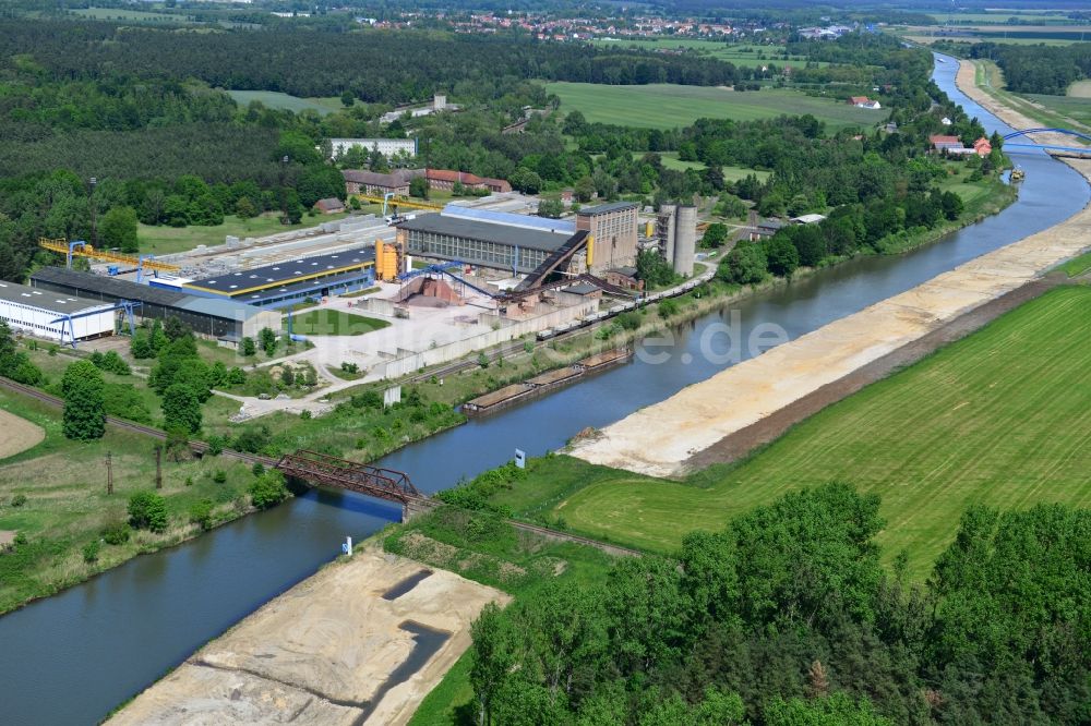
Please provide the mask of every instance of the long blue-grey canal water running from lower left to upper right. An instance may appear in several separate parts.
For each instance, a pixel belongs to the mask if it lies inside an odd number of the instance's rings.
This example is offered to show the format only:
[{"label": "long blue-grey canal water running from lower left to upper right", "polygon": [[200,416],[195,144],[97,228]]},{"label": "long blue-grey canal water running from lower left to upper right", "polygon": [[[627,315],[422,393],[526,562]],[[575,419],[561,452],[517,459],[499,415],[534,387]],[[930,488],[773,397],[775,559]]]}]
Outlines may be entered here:
[{"label": "long blue-grey canal water running from lower left to upper right", "polygon": [[[997,119],[960,94],[954,59],[937,63],[940,88],[982,120]],[[949,239],[897,257],[868,257],[733,303],[676,331],[666,362],[640,360],[542,399],[471,420],[381,462],[424,492],[508,461],[540,455],[587,426],[603,426],[721,371],[700,352],[709,326],[738,314],[744,336],[775,324],[790,338],[903,292],[981,254],[1051,227],[1089,198],[1082,178],[1040,153],[1021,153],[1019,201]],[[0,721],[79,724],[100,719],[194,650],[333,559],[346,535],[365,537],[398,518],[386,503],[312,491],[179,547],[139,557],[59,595],[0,617]]]}]

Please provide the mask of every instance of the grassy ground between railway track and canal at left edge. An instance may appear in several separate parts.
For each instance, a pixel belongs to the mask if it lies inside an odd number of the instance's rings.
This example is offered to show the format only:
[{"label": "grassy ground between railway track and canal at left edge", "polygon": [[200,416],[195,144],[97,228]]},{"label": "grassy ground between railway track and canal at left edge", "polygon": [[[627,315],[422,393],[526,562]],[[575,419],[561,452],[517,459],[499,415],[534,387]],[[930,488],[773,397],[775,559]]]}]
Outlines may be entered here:
[{"label": "grassy ground between railway track and canal at left edge", "polygon": [[[109,425],[101,438],[73,441],[47,404],[0,389],[0,407],[46,432],[43,443],[0,461],[0,530],[15,533],[0,550],[0,614],[252,510],[250,465],[168,452],[156,488],[160,441]],[[163,497],[159,531],[129,524],[130,497],[142,492]]]}]

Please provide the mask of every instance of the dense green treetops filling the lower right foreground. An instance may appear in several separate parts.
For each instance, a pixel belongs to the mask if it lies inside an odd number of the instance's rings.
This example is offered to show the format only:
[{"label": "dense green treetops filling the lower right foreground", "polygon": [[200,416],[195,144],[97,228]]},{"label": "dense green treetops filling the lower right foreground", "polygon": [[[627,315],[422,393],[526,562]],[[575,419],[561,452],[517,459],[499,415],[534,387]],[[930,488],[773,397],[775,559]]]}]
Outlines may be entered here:
[{"label": "dense green treetops filling the lower right foreground", "polygon": [[473,721],[1088,723],[1091,512],[974,507],[920,586],[880,565],[878,504],[789,494],[674,557],[487,608]]}]

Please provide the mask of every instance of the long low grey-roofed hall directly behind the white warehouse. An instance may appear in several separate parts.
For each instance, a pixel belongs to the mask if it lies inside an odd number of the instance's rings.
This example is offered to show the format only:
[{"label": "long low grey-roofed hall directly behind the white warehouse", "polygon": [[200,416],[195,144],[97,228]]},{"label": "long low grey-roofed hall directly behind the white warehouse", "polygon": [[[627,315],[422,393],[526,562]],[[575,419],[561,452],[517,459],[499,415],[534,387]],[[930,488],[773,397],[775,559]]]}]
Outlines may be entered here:
[{"label": "long low grey-roofed hall directly behind the white warehouse", "polygon": [[[142,319],[178,317],[197,335],[239,340],[256,336],[262,328],[280,329],[280,314],[235,300],[199,298],[179,290],[139,285],[117,277],[80,273],[63,267],[43,267],[31,276],[34,290],[48,295],[57,292],[82,301],[98,301],[113,307],[132,301],[133,313]],[[110,331],[113,331],[113,315]]]}]

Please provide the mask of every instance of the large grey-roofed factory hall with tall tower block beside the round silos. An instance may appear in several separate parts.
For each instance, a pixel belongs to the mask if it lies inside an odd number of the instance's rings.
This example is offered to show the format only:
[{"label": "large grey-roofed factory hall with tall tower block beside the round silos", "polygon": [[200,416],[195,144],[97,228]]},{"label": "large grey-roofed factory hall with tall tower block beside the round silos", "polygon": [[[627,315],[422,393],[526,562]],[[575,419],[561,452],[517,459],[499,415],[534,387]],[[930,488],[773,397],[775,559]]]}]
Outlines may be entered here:
[{"label": "large grey-roofed factory hall with tall tower block beside the round silos", "polygon": [[575,220],[447,205],[397,228],[407,254],[514,275],[530,274],[554,255],[575,274],[602,275],[636,262],[637,205],[624,202],[583,209]]}]

